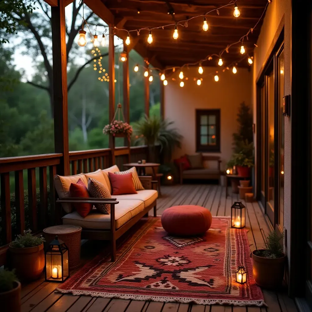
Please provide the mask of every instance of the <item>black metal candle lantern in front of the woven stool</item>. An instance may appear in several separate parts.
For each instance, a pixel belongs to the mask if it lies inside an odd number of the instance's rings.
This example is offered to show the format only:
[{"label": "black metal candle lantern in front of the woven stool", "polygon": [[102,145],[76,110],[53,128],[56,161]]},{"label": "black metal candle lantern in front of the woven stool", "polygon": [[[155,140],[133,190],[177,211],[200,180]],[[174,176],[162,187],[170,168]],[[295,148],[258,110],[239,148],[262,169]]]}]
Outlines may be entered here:
[{"label": "black metal candle lantern in front of the woven stool", "polygon": [[69,277],[69,250],[57,236],[45,253],[46,281],[62,283]]}]

